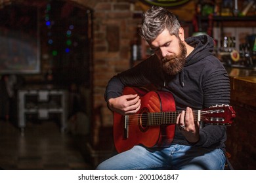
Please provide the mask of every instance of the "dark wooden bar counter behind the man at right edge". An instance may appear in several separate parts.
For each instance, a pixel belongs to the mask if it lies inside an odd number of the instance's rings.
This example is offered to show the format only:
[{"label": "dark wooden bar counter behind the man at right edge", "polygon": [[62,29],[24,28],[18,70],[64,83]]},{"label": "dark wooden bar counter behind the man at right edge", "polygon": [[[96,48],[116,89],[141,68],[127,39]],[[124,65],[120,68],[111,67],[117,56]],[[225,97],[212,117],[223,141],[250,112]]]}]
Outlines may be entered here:
[{"label": "dark wooden bar counter behind the man at right edge", "polygon": [[256,169],[256,69],[226,67],[230,78],[230,105],[236,111],[227,127],[226,150],[234,169]]}]

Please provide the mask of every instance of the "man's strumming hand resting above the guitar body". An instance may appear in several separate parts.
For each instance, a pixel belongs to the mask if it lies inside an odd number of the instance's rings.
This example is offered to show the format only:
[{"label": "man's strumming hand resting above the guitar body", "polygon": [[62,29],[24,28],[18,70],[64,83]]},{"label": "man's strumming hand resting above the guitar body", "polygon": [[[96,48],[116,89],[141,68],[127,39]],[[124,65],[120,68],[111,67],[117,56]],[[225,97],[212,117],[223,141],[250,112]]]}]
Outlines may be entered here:
[{"label": "man's strumming hand resting above the guitar body", "polygon": [[121,115],[135,114],[139,111],[140,105],[140,97],[137,94],[122,95],[108,100],[108,107]]}]

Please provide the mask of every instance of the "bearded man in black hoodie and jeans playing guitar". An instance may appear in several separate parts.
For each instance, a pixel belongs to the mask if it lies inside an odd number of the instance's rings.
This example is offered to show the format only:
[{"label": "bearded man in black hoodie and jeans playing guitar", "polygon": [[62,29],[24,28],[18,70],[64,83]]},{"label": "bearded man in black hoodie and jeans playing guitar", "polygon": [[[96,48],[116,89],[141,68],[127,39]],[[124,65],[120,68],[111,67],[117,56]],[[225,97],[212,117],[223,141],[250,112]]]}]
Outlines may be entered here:
[{"label": "bearded man in black hoodie and jeans playing guitar", "polygon": [[[144,13],[140,34],[154,54],[108,82],[104,93],[108,107],[125,120],[120,129],[123,137],[114,139],[123,141],[123,146],[117,144],[117,148],[122,146],[117,150],[119,153],[96,169],[224,169],[226,127],[201,123],[198,113],[193,112],[230,103],[230,82],[222,63],[213,56],[213,39],[208,35],[185,39],[184,29],[175,15],[163,7],[152,7]],[[146,104],[144,99],[142,103],[140,92],[123,93],[127,87],[148,85],[154,86],[159,94],[147,97]],[[161,110],[173,105],[168,100],[161,100],[160,92],[170,93],[175,110],[180,111],[175,116],[175,123],[168,125],[172,129],[161,127],[166,128],[159,139],[173,131],[173,136],[167,140],[169,143],[147,146],[154,137],[153,131],[152,136],[144,139],[149,142],[135,143],[125,149],[126,140],[136,141],[140,131],[143,136],[150,129],[148,124],[143,124],[144,114],[154,108]],[[158,97],[161,104],[156,106],[154,101]],[[132,122],[129,122],[135,114],[140,114],[135,122],[138,131],[131,130]],[[169,122],[165,118],[160,116],[160,120]]]}]

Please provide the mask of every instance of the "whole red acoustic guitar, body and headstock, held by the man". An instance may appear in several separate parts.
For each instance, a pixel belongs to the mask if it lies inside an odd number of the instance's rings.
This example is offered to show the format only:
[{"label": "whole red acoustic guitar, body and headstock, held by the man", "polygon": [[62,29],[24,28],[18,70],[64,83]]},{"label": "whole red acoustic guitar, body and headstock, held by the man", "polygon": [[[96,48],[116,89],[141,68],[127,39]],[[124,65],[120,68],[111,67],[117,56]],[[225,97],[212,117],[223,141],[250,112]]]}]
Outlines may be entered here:
[{"label": "whole red acoustic guitar, body and headstock, held by the man", "polygon": [[[143,144],[148,148],[167,147],[175,135],[176,112],[173,95],[168,92],[147,92],[125,87],[123,95],[140,95],[141,107],[133,115],[114,112],[114,144],[117,152]],[[193,111],[194,120],[211,124],[230,125],[236,114],[231,106],[221,105]],[[171,125],[173,124],[173,125]]]}]

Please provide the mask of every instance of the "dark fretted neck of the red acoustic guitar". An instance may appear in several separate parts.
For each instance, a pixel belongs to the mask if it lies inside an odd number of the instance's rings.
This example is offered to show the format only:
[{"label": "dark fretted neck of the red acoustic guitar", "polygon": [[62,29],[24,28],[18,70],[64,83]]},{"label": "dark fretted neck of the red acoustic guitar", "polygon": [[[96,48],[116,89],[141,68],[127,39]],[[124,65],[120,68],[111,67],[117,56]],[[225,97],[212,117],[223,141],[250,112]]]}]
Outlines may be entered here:
[{"label": "dark fretted neck of the red acoustic guitar", "polygon": [[[200,110],[193,110],[193,116],[195,121],[200,121]],[[177,112],[149,112],[142,114],[142,118],[146,118],[147,125],[169,125],[175,124],[177,116],[181,114],[181,111]],[[146,115],[146,116],[144,116]],[[144,119],[145,120],[145,119]],[[144,121],[142,120],[142,121]]]}]

